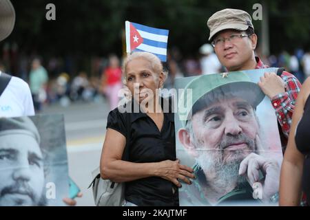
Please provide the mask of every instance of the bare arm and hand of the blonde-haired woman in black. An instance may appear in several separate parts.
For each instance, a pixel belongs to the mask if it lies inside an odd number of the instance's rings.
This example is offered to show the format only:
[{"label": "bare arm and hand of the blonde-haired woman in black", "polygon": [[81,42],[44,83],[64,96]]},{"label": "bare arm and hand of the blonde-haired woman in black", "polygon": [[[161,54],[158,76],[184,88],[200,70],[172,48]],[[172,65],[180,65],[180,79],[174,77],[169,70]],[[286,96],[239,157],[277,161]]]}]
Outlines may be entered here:
[{"label": "bare arm and hand of the blonde-haired woman in black", "polygon": [[126,138],[113,129],[107,129],[103,151],[101,154],[101,177],[116,182],[133,181],[145,177],[162,177],[180,186],[178,179],[187,184],[194,178],[192,168],[183,166],[176,161],[165,160],[156,163],[133,163],[121,160],[125,149]]}]

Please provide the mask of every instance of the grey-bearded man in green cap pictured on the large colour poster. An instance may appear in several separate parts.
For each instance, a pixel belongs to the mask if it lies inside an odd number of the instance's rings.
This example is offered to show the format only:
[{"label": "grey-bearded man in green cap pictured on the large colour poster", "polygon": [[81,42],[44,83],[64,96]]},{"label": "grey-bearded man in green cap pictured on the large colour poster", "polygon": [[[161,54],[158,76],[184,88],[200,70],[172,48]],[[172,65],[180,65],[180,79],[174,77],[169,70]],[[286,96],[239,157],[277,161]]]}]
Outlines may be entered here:
[{"label": "grey-bearded man in green cap pictured on the large colour poster", "polygon": [[[207,86],[206,86],[206,83]],[[228,78],[200,76],[185,87],[192,91],[192,108],[178,114],[183,128],[178,138],[196,159],[193,186],[180,189],[182,206],[257,205],[271,203],[278,192],[280,164],[265,155],[256,107],[265,98],[256,83],[242,72]],[[188,103],[188,102],[187,102]],[[262,170],[262,172],[261,172]],[[253,197],[254,183],[262,184]]]}]

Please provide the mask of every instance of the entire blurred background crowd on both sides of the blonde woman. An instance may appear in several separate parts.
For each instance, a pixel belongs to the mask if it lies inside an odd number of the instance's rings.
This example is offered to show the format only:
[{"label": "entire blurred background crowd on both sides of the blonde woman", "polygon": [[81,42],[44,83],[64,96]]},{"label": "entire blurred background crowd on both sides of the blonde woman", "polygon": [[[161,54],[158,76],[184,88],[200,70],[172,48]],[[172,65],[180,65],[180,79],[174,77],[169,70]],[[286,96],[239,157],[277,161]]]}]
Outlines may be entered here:
[{"label": "entire blurred background crowd on both sides of the blonde woman", "polygon": [[[260,56],[259,51],[256,54]],[[307,50],[296,49],[292,54],[283,51],[278,55],[271,54],[260,58],[269,67],[284,67],[287,72],[296,76],[300,83],[310,76],[310,52]],[[43,104],[60,103],[66,107],[72,102],[96,102],[102,98],[110,104],[110,109],[114,109],[119,99],[117,91],[123,84],[122,62],[123,58],[112,54],[107,58],[95,59],[92,63],[96,65],[92,65],[91,73],[83,70],[74,73],[65,71],[68,69],[63,65],[65,62],[56,58],[43,62],[34,57],[31,62],[25,59],[17,62],[20,66],[17,69],[21,71],[12,74],[29,83],[36,111],[41,111]],[[10,65],[5,63],[0,60],[0,70],[10,73]],[[28,66],[25,63],[29,63]],[[43,63],[46,63],[46,67]],[[164,69],[169,72],[165,81],[167,89],[174,87],[175,78],[216,74],[227,70],[218,61],[214,48],[209,43],[198,48],[195,57],[182,56],[176,48],[170,50]]]}]

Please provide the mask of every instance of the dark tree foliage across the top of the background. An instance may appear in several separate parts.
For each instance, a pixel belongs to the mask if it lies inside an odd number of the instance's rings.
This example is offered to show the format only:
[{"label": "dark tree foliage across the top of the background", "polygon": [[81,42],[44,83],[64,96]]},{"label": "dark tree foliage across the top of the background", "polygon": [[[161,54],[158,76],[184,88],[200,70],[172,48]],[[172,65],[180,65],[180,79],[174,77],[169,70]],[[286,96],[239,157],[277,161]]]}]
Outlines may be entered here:
[{"label": "dark tree foliage across the top of the background", "polygon": [[[8,41],[20,49],[46,56],[120,55],[125,21],[133,21],[169,33],[169,48],[195,55],[207,42],[207,19],[224,8],[239,8],[253,14],[257,0],[12,0],[17,12],[14,32]],[[56,21],[45,19],[45,5],[56,5]],[[309,49],[310,3],[307,0],[266,1],[269,12],[271,52]],[[266,10],[266,9],[262,9]],[[258,35],[262,21],[254,21]]]}]

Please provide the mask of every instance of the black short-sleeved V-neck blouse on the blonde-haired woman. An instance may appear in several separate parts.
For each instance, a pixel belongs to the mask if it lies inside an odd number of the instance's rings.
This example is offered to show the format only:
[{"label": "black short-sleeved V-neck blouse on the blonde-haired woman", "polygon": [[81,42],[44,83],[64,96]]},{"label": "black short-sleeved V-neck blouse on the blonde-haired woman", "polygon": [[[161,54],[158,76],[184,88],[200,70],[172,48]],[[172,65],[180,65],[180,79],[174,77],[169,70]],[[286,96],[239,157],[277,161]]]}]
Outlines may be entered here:
[{"label": "black short-sleeved V-neck blouse on the blonde-haired woman", "polygon": [[[163,99],[162,99],[163,103]],[[167,104],[167,102],[166,102]],[[163,104],[162,104],[163,108]],[[129,147],[129,161],[135,163],[161,162],[176,160],[174,133],[174,114],[169,108],[164,113],[161,131],[146,113],[120,113],[110,111],[107,128],[114,129],[126,137]],[[127,137],[127,120],[130,120],[130,137]],[[178,206],[176,186],[161,177],[147,177],[129,181],[125,184],[125,199],[137,206]]]}]

